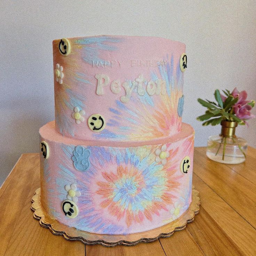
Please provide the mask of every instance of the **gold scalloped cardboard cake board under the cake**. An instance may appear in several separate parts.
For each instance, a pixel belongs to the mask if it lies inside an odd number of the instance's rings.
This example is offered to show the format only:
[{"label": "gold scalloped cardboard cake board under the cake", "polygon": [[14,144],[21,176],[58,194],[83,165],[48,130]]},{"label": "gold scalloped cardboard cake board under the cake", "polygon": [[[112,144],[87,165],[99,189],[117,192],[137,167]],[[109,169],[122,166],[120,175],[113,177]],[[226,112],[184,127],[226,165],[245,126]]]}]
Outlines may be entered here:
[{"label": "gold scalloped cardboard cake board under the cake", "polygon": [[55,219],[51,218],[42,208],[40,203],[40,188],[35,191],[32,197],[31,210],[34,211],[34,218],[39,220],[40,225],[47,227],[55,235],[63,235],[67,240],[79,240],[86,245],[101,244],[106,247],[116,245],[137,245],[140,242],[153,242],[158,238],[170,237],[174,231],[185,229],[187,223],[194,220],[195,214],[199,213],[200,198],[199,192],[192,190],[192,202],[185,213],[175,221],[164,226],[158,227],[145,232],[127,234],[127,235],[108,235],[89,233],[66,226]]}]

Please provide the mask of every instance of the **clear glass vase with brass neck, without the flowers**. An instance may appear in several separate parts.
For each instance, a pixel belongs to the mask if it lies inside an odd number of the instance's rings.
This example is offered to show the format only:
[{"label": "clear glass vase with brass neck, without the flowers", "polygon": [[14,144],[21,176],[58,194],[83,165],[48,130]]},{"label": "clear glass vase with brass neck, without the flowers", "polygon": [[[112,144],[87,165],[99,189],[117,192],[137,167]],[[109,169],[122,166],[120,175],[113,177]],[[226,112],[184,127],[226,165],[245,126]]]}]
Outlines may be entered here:
[{"label": "clear glass vase with brass neck, without the flowers", "polygon": [[237,122],[222,121],[220,135],[210,136],[207,141],[206,155],[213,161],[236,164],[245,161],[247,142],[235,136]]}]

